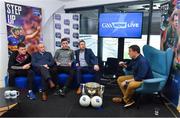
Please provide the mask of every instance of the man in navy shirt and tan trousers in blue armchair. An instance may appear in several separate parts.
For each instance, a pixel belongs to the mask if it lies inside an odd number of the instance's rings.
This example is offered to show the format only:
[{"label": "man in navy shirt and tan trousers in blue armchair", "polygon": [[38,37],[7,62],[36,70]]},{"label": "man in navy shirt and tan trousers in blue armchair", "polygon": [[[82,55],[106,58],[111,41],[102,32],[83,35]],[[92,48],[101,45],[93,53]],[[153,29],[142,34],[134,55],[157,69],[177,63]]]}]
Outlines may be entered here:
[{"label": "man in navy shirt and tan trousers in blue armchair", "polygon": [[149,62],[140,54],[140,48],[137,45],[129,47],[129,56],[132,61],[126,65],[124,62],[120,62],[120,66],[126,68],[126,70],[132,70],[133,75],[120,76],[117,79],[118,85],[123,93],[123,98],[115,97],[113,102],[124,102],[124,107],[129,107],[135,102],[132,99],[134,90],[141,86],[143,80],[153,77]]}]

